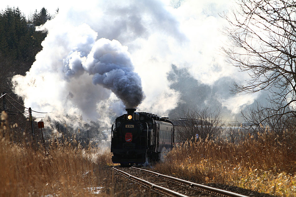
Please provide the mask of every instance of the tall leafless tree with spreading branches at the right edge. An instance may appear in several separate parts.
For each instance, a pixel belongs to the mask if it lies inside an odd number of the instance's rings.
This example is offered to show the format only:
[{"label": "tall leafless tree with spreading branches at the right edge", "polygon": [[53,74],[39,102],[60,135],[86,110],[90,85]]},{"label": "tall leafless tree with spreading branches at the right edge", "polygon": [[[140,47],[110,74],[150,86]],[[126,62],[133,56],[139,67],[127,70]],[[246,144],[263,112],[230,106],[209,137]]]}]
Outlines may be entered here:
[{"label": "tall leafless tree with spreading branches at the right edge", "polygon": [[[271,92],[266,118],[295,116],[296,2],[294,0],[239,0],[236,10],[222,14],[230,24],[224,33],[232,46],[223,48],[230,63],[251,77],[234,84],[234,93]],[[264,121],[264,120],[263,120]]]}]

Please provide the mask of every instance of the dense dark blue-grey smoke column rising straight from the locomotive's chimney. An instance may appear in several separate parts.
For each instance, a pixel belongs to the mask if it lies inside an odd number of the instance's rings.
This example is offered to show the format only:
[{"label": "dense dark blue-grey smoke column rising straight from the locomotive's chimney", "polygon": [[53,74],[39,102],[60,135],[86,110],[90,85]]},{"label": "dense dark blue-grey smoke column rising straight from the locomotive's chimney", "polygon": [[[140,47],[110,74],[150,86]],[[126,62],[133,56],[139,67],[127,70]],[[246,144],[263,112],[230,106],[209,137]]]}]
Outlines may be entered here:
[{"label": "dense dark blue-grey smoke column rising straight from the locomotive's chimney", "polygon": [[[134,72],[127,47],[117,40],[99,39],[87,57],[82,52],[69,54],[65,61],[65,76],[73,77],[87,71],[93,84],[110,89],[127,108],[136,108],[144,99],[141,78]],[[86,58],[86,59],[85,59]]]}]

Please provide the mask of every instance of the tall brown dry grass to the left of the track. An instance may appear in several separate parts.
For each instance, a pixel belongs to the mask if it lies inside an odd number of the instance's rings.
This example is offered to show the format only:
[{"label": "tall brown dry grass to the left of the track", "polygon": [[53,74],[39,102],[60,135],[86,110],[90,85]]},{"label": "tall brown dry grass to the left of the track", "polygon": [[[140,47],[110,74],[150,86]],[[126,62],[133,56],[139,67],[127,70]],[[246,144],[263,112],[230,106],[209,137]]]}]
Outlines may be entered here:
[{"label": "tall brown dry grass to the left of the track", "polygon": [[[12,143],[14,128],[7,126],[3,113],[1,119],[0,196],[113,196],[116,192],[112,173],[103,169],[112,163],[109,151],[52,142],[45,157],[42,146],[35,153],[26,143]],[[101,187],[103,193],[95,194]]]}]

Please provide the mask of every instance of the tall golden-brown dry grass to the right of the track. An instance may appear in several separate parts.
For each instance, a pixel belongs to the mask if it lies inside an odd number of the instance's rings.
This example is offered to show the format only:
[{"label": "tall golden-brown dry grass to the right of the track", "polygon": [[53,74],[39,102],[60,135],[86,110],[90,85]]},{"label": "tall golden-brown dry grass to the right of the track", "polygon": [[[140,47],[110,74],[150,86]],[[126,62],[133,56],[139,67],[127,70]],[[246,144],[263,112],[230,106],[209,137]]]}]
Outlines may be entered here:
[{"label": "tall golden-brown dry grass to the right of the track", "polygon": [[198,140],[175,147],[155,170],[277,196],[296,196],[296,135],[250,136],[239,144]]}]

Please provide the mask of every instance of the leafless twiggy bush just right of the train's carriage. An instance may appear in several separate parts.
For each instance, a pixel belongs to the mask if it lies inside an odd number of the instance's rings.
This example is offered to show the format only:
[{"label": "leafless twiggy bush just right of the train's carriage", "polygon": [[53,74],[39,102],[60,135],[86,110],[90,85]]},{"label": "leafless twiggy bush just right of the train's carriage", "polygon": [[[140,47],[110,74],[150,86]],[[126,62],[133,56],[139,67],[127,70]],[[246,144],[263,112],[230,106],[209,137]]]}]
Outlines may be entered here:
[{"label": "leafless twiggy bush just right of the train's carriage", "polygon": [[215,140],[219,138],[222,133],[221,122],[221,108],[217,108],[215,111],[211,111],[209,106],[204,109],[191,108],[188,111],[184,111],[184,118],[181,118],[179,122],[182,122],[177,128],[181,132],[179,136],[180,141],[190,140],[196,138]]}]

